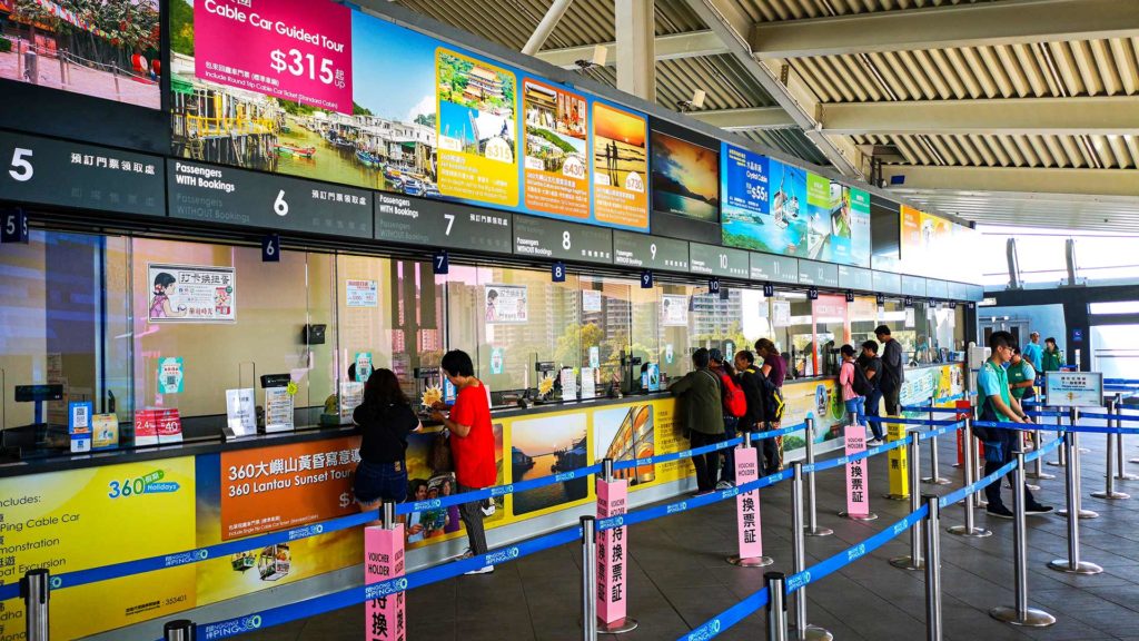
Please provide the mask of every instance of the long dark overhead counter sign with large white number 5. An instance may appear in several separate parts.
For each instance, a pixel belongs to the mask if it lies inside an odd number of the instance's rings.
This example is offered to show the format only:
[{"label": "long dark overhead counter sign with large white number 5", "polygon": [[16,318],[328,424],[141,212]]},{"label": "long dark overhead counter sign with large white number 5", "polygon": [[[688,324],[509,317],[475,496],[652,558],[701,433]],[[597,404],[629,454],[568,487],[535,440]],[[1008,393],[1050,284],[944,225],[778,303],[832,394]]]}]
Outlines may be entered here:
[{"label": "long dark overhead counter sign with large white number 5", "polygon": [[0,200],[166,216],[162,159],[0,131]]}]

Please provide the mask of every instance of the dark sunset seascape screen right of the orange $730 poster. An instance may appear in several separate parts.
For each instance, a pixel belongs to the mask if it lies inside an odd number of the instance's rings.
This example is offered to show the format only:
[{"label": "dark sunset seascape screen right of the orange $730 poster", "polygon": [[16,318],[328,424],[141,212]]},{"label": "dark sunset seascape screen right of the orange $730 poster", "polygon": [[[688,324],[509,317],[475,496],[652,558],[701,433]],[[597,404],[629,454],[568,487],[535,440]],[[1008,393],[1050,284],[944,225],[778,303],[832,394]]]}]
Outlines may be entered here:
[{"label": "dark sunset seascape screen right of the orange $730 poster", "polygon": [[653,211],[715,222],[720,218],[719,154],[653,131]]}]

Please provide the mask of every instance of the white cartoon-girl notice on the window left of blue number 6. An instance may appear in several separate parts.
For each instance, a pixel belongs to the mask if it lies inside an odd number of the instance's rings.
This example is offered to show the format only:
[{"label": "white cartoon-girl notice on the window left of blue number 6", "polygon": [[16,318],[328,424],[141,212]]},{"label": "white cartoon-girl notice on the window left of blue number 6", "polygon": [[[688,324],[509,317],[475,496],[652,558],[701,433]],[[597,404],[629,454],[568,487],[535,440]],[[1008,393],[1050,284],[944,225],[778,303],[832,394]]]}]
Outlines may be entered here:
[{"label": "white cartoon-girl notice on the window left of blue number 6", "polygon": [[150,323],[232,323],[237,276],[232,267],[150,263]]}]

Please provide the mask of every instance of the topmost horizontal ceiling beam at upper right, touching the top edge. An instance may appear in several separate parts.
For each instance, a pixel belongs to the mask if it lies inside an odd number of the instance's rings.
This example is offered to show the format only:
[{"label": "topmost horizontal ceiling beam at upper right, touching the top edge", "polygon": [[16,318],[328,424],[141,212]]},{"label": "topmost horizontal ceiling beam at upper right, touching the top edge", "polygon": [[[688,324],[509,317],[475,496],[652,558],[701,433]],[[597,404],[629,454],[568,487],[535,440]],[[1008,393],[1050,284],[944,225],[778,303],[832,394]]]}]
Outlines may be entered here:
[{"label": "topmost horizontal ceiling beam at upper right, touching the top edge", "polygon": [[760,58],[802,58],[1136,35],[1134,0],[1001,0],[759,23],[748,41]]}]

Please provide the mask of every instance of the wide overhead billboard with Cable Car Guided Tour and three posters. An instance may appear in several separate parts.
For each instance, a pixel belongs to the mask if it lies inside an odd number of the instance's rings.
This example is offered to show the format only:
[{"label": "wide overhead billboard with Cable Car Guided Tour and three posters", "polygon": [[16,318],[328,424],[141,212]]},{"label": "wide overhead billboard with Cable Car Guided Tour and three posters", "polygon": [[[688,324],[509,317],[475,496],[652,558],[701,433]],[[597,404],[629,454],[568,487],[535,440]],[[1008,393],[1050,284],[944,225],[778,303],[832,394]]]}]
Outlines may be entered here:
[{"label": "wide overhead billboard with Cable Car Guided Tour and three posters", "polygon": [[648,230],[642,114],[329,0],[171,2],[177,155]]}]

